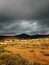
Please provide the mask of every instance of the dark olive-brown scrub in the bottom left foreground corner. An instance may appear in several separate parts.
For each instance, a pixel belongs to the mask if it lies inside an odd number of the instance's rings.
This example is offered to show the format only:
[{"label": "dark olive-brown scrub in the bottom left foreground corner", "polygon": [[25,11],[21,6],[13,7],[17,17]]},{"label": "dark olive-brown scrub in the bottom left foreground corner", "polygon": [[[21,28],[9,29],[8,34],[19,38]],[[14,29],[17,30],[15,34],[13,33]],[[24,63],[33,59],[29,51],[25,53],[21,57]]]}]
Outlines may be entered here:
[{"label": "dark olive-brown scrub in the bottom left foreground corner", "polygon": [[0,65],[32,65],[19,54],[4,52],[0,54]]}]

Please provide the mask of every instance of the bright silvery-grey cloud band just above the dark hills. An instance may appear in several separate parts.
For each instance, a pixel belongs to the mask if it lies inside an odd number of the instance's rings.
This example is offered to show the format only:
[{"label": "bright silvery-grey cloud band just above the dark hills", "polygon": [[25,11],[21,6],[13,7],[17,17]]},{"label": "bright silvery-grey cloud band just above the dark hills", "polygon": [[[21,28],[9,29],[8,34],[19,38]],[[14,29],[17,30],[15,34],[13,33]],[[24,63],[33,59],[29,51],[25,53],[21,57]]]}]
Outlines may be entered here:
[{"label": "bright silvery-grey cloud band just above the dark hills", "polygon": [[49,24],[43,20],[17,20],[6,24],[3,22],[0,26],[0,35],[49,34]]}]

